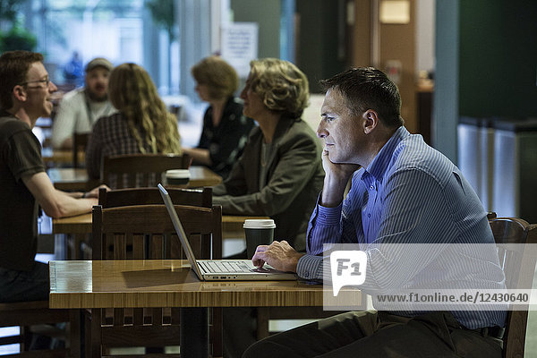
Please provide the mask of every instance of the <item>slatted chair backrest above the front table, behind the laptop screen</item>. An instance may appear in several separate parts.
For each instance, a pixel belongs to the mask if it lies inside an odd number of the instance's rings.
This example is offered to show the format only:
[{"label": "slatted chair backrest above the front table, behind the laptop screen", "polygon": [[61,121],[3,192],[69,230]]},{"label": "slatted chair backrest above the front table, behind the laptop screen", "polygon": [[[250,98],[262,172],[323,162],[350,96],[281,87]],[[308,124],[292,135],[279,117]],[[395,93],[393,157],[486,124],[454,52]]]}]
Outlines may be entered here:
[{"label": "slatted chair backrest above the front table, behind the laptop screen", "polygon": [[[175,205],[175,209],[196,257],[222,258],[222,208]],[[182,252],[181,243],[165,205],[109,209],[96,205],[92,226],[93,260],[183,258],[175,254]]]}]

